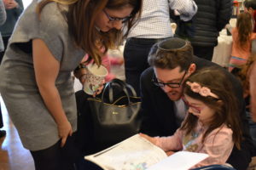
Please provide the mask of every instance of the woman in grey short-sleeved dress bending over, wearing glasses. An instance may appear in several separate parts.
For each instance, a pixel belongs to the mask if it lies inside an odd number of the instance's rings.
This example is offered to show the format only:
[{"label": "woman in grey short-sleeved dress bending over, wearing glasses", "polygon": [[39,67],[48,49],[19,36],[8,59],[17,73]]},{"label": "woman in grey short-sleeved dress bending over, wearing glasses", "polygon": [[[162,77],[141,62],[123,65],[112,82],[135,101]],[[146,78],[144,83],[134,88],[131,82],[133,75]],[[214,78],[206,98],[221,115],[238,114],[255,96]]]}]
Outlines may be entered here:
[{"label": "woman in grey short-sleeved dress bending over, wearing glasses", "polygon": [[37,170],[73,169],[71,71],[85,53],[100,65],[97,47],[107,50],[125,38],[141,1],[34,0],[21,15],[0,67],[0,92]]}]

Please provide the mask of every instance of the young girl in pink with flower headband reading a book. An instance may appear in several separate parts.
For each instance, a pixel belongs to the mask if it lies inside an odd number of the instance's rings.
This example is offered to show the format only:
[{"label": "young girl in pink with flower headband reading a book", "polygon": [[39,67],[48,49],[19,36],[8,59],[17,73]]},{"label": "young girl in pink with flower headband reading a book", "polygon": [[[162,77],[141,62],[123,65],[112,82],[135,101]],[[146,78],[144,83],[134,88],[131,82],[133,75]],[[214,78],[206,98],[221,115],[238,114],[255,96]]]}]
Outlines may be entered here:
[{"label": "young girl in pink with flower headband reading a book", "polygon": [[167,154],[175,150],[207,153],[209,157],[195,167],[224,164],[234,144],[240,149],[241,143],[241,122],[230,87],[222,71],[207,68],[196,72],[184,82],[189,110],[176,133],[161,138],[141,135]]}]

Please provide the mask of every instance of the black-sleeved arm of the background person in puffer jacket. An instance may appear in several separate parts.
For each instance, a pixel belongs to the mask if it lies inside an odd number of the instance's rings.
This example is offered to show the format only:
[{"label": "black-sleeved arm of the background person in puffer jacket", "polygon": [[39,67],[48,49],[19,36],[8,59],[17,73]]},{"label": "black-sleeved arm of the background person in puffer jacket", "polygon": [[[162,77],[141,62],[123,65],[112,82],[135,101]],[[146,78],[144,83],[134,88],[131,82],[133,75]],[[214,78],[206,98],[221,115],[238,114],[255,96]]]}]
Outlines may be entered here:
[{"label": "black-sleeved arm of the background person in puffer jacket", "polygon": [[217,8],[216,8],[216,14],[217,14],[217,29],[218,31],[221,31],[226,24],[230,22],[230,18],[232,15],[232,9],[233,9],[233,1],[232,0],[218,0],[216,1]]}]

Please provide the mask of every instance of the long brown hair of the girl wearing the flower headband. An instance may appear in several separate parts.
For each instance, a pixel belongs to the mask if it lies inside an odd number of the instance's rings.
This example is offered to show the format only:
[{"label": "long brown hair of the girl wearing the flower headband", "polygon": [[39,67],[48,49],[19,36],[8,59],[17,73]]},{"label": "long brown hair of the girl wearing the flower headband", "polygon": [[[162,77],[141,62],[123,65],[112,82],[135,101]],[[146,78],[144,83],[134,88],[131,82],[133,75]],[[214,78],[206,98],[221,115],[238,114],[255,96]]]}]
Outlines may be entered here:
[{"label": "long brown hair of the girl wearing the flower headband", "polygon": [[[218,96],[218,99],[211,96],[201,96],[201,94],[193,92],[190,86],[184,83],[184,94],[193,99],[202,101],[205,105],[215,111],[212,120],[207,123],[207,131],[203,134],[202,143],[212,130],[226,124],[232,129],[233,141],[236,144],[236,147],[240,149],[242,134],[239,108],[237,106],[239,104],[234,89],[232,88],[232,84],[227,81],[224,71],[209,67],[195,72],[195,74],[186,80],[186,82],[188,81],[197,82],[201,84],[202,87],[210,88],[211,92]],[[195,131],[197,121],[197,116],[189,114],[183,122],[181,129],[185,130],[186,134],[192,133]]]}]

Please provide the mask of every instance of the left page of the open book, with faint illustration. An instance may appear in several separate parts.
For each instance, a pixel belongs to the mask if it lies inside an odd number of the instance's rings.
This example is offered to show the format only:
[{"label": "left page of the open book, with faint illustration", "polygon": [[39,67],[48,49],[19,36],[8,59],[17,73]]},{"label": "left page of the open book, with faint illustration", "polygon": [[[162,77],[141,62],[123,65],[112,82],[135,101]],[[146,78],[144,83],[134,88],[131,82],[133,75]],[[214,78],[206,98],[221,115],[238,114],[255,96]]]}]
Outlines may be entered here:
[{"label": "left page of the open book, with faint illustration", "polygon": [[166,157],[164,150],[136,134],[84,158],[107,170],[144,170]]}]

